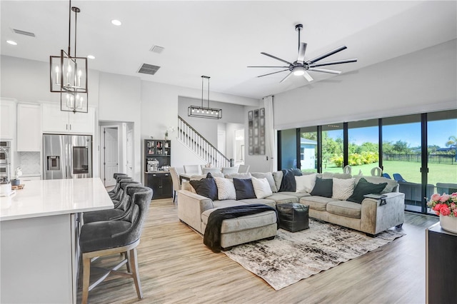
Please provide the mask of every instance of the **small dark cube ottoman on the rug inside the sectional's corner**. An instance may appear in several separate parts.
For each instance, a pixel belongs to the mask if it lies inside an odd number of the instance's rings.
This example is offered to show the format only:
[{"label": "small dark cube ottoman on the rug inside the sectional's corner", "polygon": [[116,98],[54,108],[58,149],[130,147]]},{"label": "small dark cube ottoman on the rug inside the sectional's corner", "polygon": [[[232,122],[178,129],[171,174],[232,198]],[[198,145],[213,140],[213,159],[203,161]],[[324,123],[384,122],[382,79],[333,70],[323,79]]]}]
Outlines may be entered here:
[{"label": "small dark cube ottoman on the rug inside the sectional's corner", "polygon": [[309,228],[309,206],[301,203],[283,203],[276,205],[279,228],[296,232]]}]

